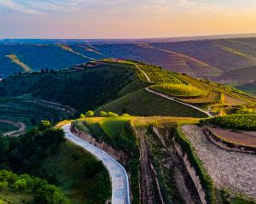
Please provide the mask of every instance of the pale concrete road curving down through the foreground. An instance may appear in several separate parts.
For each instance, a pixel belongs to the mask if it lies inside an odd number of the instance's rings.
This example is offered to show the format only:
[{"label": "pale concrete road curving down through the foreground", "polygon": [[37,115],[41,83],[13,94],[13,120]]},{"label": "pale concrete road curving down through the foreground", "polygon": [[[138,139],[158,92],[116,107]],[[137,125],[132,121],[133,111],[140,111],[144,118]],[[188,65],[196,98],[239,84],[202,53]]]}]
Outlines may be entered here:
[{"label": "pale concrete road curving down through the foreground", "polygon": [[103,150],[97,148],[96,146],[79,139],[70,131],[70,123],[64,125],[62,129],[64,130],[65,137],[84,148],[84,150],[89,151],[92,155],[96,156],[99,161],[102,161],[103,165],[108,169],[108,173],[112,183],[112,204],[130,204],[130,189],[129,189],[129,179],[125,171],[125,168],[115,161],[113,157],[109,156]]}]

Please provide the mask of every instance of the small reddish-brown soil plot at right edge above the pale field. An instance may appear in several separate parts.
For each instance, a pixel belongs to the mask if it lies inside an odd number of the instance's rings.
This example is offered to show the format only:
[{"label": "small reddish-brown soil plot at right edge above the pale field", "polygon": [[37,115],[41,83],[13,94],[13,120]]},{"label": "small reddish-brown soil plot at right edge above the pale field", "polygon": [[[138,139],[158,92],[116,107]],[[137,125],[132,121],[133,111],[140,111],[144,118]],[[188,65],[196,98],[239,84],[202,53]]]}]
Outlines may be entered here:
[{"label": "small reddish-brown soil plot at right edge above the pale field", "polygon": [[222,129],[218,127],[209,127],[208,128],[215,136],[220,139],[224,139],[233,144],[242,144],[244,146],[250,146],[256,148],[256,136],[250,133],[240,133],[234,132],[227,129]]}]

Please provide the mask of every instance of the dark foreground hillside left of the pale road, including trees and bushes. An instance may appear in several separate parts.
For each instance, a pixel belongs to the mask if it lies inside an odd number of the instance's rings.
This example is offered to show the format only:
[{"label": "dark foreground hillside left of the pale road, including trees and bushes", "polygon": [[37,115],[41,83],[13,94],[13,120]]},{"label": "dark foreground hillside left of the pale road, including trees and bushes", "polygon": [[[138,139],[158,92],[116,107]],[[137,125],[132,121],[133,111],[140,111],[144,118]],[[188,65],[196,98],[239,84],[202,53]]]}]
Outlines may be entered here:
[{"label": "dark foreground hillside left of the pale road, including trees and bushes", "polygon": [[[66,141],[61,129],[50,127],[39,131],[37,128],[16,138],[0,136],[0,146],[0,169],[12,170],[20,175],[20,179],[15,176],[17,182],[23,182],[23,185],[14,184],[13,178],[0,171],[0,201],[3,199],[17,204],[22,200],[33,201],[29,203],[102,204],[111,195],[107,169],[87,151]],[[22,175],[24,173],[26,175]],[[27,178],[27,174],[31,175],[35,184]],[[3,181],[8,181],[9,185],[4,187]],[[40,189],[39,184],[46,184],[47,188],[43,186]],[[61,196],[65,196],[65,201],[57,199]]]}]

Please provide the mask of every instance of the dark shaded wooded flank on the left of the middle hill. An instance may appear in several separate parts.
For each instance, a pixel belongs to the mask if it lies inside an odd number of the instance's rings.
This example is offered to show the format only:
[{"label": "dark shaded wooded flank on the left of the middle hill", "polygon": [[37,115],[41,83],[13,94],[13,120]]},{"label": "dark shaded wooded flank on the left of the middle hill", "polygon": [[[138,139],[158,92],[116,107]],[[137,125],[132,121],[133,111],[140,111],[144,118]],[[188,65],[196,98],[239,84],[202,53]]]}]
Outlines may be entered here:
[{"label": "dark shaded wooded flank on the left of the middle hill", "polygon": [[131,65],[125,64],[99,63],[81,69],[9,77],[0,83],[0,96],[29,94],[82,111],[116,99],[136,78]]}]

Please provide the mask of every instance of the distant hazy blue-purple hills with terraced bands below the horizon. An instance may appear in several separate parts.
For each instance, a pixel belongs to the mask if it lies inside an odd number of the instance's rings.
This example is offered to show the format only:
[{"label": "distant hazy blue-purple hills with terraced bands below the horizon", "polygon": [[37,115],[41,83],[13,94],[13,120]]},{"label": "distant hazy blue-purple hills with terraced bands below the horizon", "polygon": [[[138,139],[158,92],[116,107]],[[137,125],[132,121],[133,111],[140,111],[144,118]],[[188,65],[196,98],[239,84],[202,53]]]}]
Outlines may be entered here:
[{"label": "distant hazy blue-purple hills with terraced bands below the horizon", "polygon": [[159,65],[191,77],[236,83],[237,88],[250,89],[248,93],[254,94],[251,88],[241,87],[255,81],[256,42],[253,37],[116,44],[57,42],[0,44],[0,77],[19,71],[61,70],[89,61],[119,58]]}]

